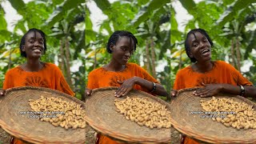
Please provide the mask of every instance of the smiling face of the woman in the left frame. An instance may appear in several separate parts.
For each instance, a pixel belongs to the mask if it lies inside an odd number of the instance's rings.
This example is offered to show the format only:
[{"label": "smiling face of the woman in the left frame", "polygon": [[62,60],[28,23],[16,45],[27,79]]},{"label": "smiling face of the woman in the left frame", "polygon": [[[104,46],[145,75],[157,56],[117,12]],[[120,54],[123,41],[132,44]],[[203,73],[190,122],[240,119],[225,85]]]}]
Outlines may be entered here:
[{"label": "smiling face of the woman in the left frame", "polygon": [[40,33],[31,31],[26,34],[25,45],[22,47],[22,51],[26,52],[26,58],[40,58],[44,50],[44,40]]}]

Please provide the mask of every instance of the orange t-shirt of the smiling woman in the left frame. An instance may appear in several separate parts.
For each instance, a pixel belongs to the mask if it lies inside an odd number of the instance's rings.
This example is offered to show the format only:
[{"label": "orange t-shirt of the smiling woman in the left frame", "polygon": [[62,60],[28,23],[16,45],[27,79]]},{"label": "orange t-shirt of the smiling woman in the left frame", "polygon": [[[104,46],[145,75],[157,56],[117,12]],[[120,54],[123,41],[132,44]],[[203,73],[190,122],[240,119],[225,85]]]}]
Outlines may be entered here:
[{"label": "orange t-shirt of the smiling woman in the left frame", "polygon": [[[48,62],[44,63],[42,70],[36,72],[22,70],[21,66],[8,70],[3,83],[3,89],[6,90],[18,86],[46,87],[74,96],[74,92],[70,89],[62,71],[59,70],[58,66]],[[14,138],[14,144],[22,143],[22,141]]]}]

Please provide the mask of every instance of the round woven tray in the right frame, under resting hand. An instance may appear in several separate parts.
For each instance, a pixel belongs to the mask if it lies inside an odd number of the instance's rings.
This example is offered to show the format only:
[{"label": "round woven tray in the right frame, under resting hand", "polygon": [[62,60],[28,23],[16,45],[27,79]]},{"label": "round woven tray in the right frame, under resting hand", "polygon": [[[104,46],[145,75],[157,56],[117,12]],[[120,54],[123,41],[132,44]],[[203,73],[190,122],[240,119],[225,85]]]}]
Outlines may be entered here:
[{"label": "round woven tray in the right frame, under resting hand", "polygon": [[[211,118],[200,118],[205,114],[190,114],[191,111],[204,111],[200,100],[210,100],[212,97],[200,98],[192,94],[197,88],[178,91],[178,96],[172,99],[171,124],[174,128],[190,138],[211,143],[256,143],[256,130],[237,130],[226,127],[221,122],[214,122]],[[236,102],[246,102],[254,106],[254,102],[241,96],[231,94],[218,94],[216,98],[234,98]]]}]

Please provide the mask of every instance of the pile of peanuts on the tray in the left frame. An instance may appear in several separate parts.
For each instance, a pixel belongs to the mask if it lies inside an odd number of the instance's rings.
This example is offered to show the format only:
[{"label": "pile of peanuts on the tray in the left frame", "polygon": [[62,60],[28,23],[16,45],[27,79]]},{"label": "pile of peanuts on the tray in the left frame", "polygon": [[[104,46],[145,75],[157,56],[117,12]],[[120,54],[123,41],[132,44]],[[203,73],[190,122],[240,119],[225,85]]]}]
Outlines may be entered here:
[{"label": "pile of peanuts on the tray in the left frame", "polygon": [[55,115],[52,118],[48,117],[48,113],[42,114],[40,118],[42,122],[50,122],[52,125],[61,126],[66,130],[86,127],[86,111],[82,110],[81,105],[75,102],[66,102],[62,98],[44,98],[41,96],[38,100],[30,99],[29,104],[35,112],[50,112],[50,114]]}]

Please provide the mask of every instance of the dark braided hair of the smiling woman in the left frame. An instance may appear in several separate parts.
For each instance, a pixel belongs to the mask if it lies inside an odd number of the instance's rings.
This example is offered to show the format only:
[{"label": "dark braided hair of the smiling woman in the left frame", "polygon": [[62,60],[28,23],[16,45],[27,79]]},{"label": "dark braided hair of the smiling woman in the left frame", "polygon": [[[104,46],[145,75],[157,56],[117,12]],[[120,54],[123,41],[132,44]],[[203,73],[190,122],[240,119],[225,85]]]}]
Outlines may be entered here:
[{"label": "dark braided hair of the smiling woman in the left frame", "polygon": [[46,54],[46,49],[47,49],[47,47],[46,47],[46,34],[45,34],[44,32],[42,32],[42,30],[38,30],[38,29],[33,28],[33,29],[28,30],[28,31],[26,32],[26,34],[23,35],[22,40],[21,40],[21,42],[20,42],[20,44],[19,44],[19,50],[21,51],[22,57],[25,57],[25,58],[26,58],[26,52],[25,52],[25,51],[22,51],[22,46],[25,45],[26,35],[29,34],[30,32],[34,32],[34,34],[35,34],[36,32],[38,32],[39,34],[41,34],[41,36],[42,36],[42,38],[43,38],[43,46],[45,47],[45,48],[44,48],[44,54]]}]

